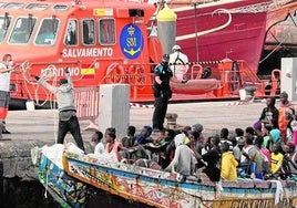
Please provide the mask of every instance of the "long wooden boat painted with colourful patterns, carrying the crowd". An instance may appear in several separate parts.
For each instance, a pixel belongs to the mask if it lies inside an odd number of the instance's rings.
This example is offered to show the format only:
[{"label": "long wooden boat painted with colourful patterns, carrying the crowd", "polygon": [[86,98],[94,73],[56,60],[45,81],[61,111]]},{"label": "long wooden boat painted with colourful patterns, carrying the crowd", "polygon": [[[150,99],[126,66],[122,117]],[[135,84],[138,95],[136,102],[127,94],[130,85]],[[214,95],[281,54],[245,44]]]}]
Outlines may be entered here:
[{"label": "long wooden boat painted with colourful patterns, carrying the crowd", "polygon": [[[222,181],[219,185],[204,175],[184,177],[176,173],[137,167],[69,149],[65,149],[62,158],[59,156],[59,163],[61,159],[63,163],[61,167],[41,150],[39,153],[38,158],[41,159],[34,159],[34,164],[41,183],[50,185],[48,187],[69,205],[75,201],[65,200],[68,198],[64,195],[69,195],[71,188],[64,185],[82,183],[82,186],[95,187],[154,207],[297,206],[297,186],[294,180],[240,179]],[[48,178],[48,183],[44,183],[44,178]],[[59,184],[61,181],[69,183]]]}]

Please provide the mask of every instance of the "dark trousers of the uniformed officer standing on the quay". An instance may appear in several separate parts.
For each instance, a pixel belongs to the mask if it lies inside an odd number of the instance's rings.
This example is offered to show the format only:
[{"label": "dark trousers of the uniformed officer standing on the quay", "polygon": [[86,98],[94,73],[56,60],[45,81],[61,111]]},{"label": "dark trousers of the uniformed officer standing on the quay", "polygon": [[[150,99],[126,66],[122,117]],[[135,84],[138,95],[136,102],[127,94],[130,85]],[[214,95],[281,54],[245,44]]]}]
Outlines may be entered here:
[{"label": "dark trousers of the uniformed officer standing on the quay", "polygon": [[153,129],[163,129],[164,119],[167,112],[168,98],[155,97],[155,111],[153,114]]}]

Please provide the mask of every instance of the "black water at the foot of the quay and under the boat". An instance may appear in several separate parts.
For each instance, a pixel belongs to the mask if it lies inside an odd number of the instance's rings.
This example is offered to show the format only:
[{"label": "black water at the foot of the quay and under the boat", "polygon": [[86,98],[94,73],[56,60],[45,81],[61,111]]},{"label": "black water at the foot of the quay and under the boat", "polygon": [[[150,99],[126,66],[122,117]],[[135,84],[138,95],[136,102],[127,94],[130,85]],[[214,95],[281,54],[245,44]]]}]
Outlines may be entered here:
[{"label": "black water at the foot of the quay and under the boat", "polygon": [[[1,208],[60,208],[61,206],[48,193],[44,196],[45,188],[37,180],[22,180],[21,178],[11,178],[3,180],[3,193],[0,198]],[[86,208],[152,208],[151,206],[133,202],[121,197],[113,196],[106,191],[95,190],[88,198]]]}]

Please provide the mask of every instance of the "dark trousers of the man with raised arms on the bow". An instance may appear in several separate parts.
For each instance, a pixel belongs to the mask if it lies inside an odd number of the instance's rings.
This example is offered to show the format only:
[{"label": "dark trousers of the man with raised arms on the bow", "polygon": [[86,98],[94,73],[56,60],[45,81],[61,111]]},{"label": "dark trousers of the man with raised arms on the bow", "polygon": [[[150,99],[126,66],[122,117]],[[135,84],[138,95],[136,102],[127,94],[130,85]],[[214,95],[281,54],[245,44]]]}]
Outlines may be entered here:
[{"label": "dark trousers of the man with raised arms on the bow", "polygon": [[81,136],[80,123],[76,116],[72,116],[69,121],[59,121],[58,144],[63,144],[66,133],[70,132],[79,148],[84,150]]}]

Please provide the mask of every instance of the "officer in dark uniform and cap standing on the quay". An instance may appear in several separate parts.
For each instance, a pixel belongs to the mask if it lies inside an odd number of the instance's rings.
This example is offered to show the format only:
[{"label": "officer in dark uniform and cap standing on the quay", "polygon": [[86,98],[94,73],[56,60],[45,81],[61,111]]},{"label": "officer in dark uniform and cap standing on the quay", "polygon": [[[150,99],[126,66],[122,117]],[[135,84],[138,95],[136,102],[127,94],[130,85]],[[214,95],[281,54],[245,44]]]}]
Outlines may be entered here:
[{"label": "officer in dark uniform and cap standing on the quay", "polygon": [[173,76],[172,70],[168,65],[170,55],[164,54],[162,62],[154,70],[154,97],[155,111],[153,114],[153,129],[164,129],[164,118],[167,112],[168,101],[172,97],[170,81],[175,83],[186,83],[187,81],[180,81]]}]

